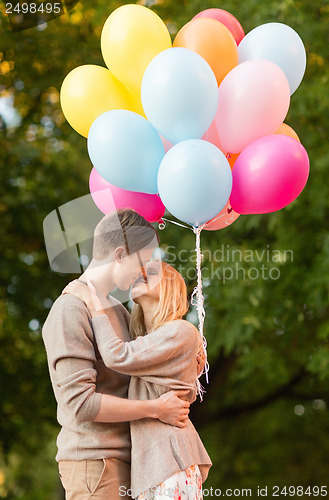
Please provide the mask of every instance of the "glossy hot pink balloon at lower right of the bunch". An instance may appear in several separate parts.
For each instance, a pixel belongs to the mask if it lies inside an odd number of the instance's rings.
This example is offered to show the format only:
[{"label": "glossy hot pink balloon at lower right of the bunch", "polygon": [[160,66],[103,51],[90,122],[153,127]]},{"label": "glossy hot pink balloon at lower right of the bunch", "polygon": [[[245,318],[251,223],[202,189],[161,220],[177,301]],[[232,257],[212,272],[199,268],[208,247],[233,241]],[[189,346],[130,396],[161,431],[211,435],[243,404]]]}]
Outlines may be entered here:
[{"label": "glossy hot pink balloon at lower right of the bunch", "polygon": [[267,135],[239,155],[232,170],[231,207],[240,214],[265,214],[286,207],[304,189],[310,163],[292,137]]}]

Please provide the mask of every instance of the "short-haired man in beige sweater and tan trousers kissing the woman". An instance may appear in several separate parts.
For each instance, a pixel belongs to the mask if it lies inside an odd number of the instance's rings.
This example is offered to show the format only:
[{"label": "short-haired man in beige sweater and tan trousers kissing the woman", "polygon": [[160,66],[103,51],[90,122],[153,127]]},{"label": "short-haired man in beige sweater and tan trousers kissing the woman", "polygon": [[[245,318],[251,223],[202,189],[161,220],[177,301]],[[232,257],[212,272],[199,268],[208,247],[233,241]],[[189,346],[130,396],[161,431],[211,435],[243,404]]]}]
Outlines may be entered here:
[{"label": "short-haired man in beige sweater and tan trousers kissing the woman", "polygon": [[[159,237],[142,216],[119,210],[98,223],[94,232],[93,258],[82,281],[89,278],[104,295],[115,287],[128,290],[144,272]],[[111,297],[116,315],[125,328],[129,313]],[[85,304],[72,295],[61,295],[53,304],[43,326],[49,372],[58,403],[57,419],[62,426],[57,438],[59,475],[67,500],[117,500],[119,488],[130,488],[129,421],[158,418],[185,427],[188,391],[171,391],[156,400],[127,399],[129,376],[105,367],[91,328]],[[204,360],[199,357],[203,369]],[[180,397],[179,397],[180,396]],[[122,488],[124,487],[124,488]]]}]

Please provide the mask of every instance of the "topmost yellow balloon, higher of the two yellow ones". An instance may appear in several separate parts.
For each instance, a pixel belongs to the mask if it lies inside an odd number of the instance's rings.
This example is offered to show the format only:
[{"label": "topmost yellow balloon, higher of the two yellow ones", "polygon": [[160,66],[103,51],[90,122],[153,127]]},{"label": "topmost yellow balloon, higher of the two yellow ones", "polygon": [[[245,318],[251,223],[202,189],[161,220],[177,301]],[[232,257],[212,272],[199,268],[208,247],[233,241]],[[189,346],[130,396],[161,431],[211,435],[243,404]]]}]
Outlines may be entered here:
[{"label": "topmost yellow balloon, higher of the two yellow ones", "polygon": [[104,61],[113,75],[135,92],[140,92],[144,72],[152,59],[171,46],[165,23],[142,5],[119,7],[103,26]]}]

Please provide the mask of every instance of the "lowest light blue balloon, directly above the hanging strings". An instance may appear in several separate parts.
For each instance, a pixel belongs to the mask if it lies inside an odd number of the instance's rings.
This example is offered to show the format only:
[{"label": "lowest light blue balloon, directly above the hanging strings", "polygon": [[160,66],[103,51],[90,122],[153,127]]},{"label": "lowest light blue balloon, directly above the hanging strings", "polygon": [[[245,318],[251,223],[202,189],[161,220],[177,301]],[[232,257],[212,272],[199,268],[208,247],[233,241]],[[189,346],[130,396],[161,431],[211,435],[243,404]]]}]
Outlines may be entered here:
[{"label": "lowest light blue balloon, directly above the hanging strings", "polygon": [[224,153],[210,142],[191,139],[173,146],[158,173],[162,202],[192,226],[215,217],[232,190],[232,171]]}]

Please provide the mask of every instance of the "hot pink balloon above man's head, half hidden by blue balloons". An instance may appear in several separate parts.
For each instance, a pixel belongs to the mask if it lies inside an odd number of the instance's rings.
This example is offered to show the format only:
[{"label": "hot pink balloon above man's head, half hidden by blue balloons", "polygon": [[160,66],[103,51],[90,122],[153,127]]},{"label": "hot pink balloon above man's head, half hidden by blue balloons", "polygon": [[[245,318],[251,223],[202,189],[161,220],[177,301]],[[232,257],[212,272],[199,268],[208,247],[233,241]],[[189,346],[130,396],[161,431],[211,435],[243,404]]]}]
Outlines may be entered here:
[{"label": "hot pink balloon above man's head, half hidden by blue balloons", "polygon": [[89,189],[95,205],[103,214],[120,208],[132,208],[149,222],[156,222],[165,213],[159,195],[121,189],[105,180],[95,168],[90,173]]}]

